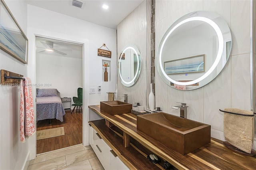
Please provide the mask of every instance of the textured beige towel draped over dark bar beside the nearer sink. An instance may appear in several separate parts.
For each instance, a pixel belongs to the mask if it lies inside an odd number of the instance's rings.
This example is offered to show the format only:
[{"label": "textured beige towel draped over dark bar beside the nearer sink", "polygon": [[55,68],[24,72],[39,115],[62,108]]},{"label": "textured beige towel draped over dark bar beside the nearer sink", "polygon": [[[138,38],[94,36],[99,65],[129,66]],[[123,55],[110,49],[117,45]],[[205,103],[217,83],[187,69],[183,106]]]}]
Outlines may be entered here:
[{"label": "textured beige towel draped over dark bar beside the nearer sink", "polygon": [[[224,111],[254,115],[252,111],[225,108]],[[254,140],[254,117],[224,113],[225,139],[244,152],[251,153]]]}]

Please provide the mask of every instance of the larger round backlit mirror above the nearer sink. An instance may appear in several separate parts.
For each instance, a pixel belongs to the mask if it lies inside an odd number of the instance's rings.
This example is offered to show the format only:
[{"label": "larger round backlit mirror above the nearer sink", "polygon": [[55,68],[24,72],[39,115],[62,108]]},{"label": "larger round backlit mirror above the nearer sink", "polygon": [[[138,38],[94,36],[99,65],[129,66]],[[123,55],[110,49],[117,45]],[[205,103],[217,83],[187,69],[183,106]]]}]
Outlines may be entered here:
[{"label": "larger round backlit mirror above the nearer sink", "polygon": [[223,18],[208,11],[186,14],[168,28],[160,42],[158,72],[173,88],[198,89],[222,71],[231,44],[230,29]]}]

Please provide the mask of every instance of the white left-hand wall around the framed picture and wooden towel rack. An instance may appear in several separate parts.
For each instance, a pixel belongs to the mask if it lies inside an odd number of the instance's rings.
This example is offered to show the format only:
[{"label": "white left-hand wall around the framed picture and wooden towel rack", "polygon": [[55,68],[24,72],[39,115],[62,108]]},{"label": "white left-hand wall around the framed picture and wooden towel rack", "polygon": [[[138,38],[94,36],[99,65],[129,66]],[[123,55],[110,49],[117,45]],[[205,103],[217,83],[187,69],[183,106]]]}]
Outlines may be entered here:
[{"label": "white left-hand wall around the framed picture and wooden towel rack", "polygon": [[[27,35],[27,6],[24,1],[5,0],[14,18]],[[0,68],[27,77],[27,65],[0,50]],[[32,138],[20,142],[20,87],[0,86],[0,169],[25,167]]]}]

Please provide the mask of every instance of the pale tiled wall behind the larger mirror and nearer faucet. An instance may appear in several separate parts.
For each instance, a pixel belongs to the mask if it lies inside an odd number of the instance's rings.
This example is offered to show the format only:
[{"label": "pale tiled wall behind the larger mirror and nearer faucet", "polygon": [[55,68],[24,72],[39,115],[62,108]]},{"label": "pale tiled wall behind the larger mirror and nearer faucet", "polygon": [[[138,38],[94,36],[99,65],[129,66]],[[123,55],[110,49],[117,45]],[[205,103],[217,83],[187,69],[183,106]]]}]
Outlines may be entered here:
[{"label": "pale tiled wall behind the larger mirror and nearer faucet", "polygon": [[[211,135],[224,140],[223,113],[227,107],[250,110],[250,1],[180,0],[156,1],[156,50],[168,27],[189,12],[206,10],[222,16],[232,32],[231,57],[216,79],[208,85],[179,91],[166,85],[156,73],[156,107],[179,115],[171,109],[176,101],[187,103],[188,119],[211,125]],[[167,94],[167,95],[166,95]]]}]

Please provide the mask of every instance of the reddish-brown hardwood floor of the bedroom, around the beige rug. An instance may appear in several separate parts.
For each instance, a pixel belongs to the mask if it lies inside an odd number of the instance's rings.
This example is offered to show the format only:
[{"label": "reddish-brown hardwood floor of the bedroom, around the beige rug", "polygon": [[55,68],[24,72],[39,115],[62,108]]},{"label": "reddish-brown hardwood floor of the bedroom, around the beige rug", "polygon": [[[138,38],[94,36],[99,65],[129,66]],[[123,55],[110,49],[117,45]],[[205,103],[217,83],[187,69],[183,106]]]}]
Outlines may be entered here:
[{"label": "reddish-brown hardwood floor of the bedroom, around the beige rug", "polygon": [[64,127],[65,135],[36,140],[36,154],[82,143],[82,113],[76,113],[76,111],[74,111],[71,114],[71,111],[72,110],[66,110],[63,122],[60,122],[57,119],[52,119],[51,124],[49,124],[48,119],[38,121],[36,130]]}]

